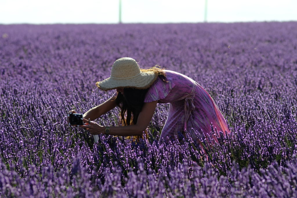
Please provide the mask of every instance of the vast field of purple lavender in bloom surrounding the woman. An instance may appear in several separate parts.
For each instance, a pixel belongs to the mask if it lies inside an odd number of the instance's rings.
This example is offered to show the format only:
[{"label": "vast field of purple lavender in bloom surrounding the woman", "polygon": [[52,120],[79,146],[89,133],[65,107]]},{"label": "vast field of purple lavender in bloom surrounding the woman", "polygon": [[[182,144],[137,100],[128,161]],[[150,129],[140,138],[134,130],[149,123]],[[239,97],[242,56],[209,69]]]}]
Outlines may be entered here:
[{"label": "vast field of purple lavender in bloom surrounding the woman", "polygon": [[[202,85],[231,134],[159,145],[169,104],[138,143],[68,126],[128,56]],[[0,25],[0,197],[297,197],[296,79],[297,22]]]}]

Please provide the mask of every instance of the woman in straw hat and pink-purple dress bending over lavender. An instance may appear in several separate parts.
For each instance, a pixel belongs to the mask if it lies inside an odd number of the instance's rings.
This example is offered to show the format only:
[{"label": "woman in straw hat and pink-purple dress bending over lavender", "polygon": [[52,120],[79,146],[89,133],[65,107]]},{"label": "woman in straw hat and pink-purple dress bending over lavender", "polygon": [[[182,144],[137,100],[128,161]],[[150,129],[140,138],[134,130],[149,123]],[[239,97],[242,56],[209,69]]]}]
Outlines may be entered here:
[{"label": "woman in straw hat and pink-purple dress bending over lavender", "polygon": [[[163,138],[166,142],[166,137],[172,139],[174,135],[178,136],[178,131],[185,130],[193,140],[197,140],[192,128],[198,133],[209,134],[211,123],[223,134],[230,132],[211,96],[194,80],[180,73],[156,66],[140,69],[134,59],[120,58],[114,62],[110,77],[96,85],[104,91],[116,89],[116,93],[83,115],[83,121],[89,124],[79,127],[89,129],[91,134],[141,136],[153,117],[157,103],[170,103],[159,143]],[[116,106],[121,108],[122,126],[100,126],[92,122]]]}]

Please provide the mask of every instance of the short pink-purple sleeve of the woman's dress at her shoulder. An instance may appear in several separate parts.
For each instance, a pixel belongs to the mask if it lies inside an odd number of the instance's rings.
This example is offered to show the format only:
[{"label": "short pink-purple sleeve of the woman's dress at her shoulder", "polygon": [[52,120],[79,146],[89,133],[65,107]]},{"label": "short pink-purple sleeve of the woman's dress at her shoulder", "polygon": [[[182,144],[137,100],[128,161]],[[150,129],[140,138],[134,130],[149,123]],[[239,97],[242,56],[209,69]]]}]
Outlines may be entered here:
[{"label": "short pink-purple sleeve of the woman's dress at her shoulder", "polygon": [[167,81],[168,82],[165,83],[158,77],[157,80],[150,86],[149,91],[146,93],[144,102],[153,102],[164,99],[175,86],[171,79],[167,78]]}]

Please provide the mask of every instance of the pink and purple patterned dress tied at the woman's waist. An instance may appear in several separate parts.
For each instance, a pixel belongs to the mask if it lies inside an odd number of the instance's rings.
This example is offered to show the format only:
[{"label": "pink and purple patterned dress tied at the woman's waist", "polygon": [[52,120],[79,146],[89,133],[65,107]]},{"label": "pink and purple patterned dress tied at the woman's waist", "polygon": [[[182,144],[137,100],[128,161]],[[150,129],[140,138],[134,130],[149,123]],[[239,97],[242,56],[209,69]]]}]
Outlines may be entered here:
[{"label": "pink and purple patterned dress tied at the woman's waist", "polygon": [[162,142],[162,138],[166,142],[166,137],[173,139],[174,135],[178,137],[178,131],[185,130],[196,141],[193,129],[198,133],[202,130],[206,135],[211,132],[211,123],[224,135],[225,131],[230,132],[225,118],[204,88],[178,72],[165,70],[165,73],[168,82],[157,78],[144,99],[144,102],[170,103],[159,143]]}]

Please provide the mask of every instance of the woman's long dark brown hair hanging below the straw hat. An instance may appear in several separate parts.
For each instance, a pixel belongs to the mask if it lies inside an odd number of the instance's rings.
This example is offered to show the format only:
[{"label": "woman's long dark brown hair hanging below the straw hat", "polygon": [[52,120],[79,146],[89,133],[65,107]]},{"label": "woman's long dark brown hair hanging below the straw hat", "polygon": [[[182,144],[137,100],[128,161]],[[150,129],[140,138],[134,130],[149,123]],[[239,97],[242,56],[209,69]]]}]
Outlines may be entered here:
[{"label": "woman's long dark brown hair hanging below the straw hat", "polygon": [[[158,74],[158,78],[167,82],[166,73],[164,69],[159,68],[158,65],[147,69],[140,69],[141,72],[154,71]],[[116,96],[116,104],[121,108],[121,123],[122,126],[133,125],[137,123],[138,115],[144,105],[144,98],[149,88],[146,89],[135,89],[135,88],[124,88],[124,95],[118,92]],[[146,136],[147,131],[145,131]],[[128,136],[128,139],[139,140],[140,136]]]}]

